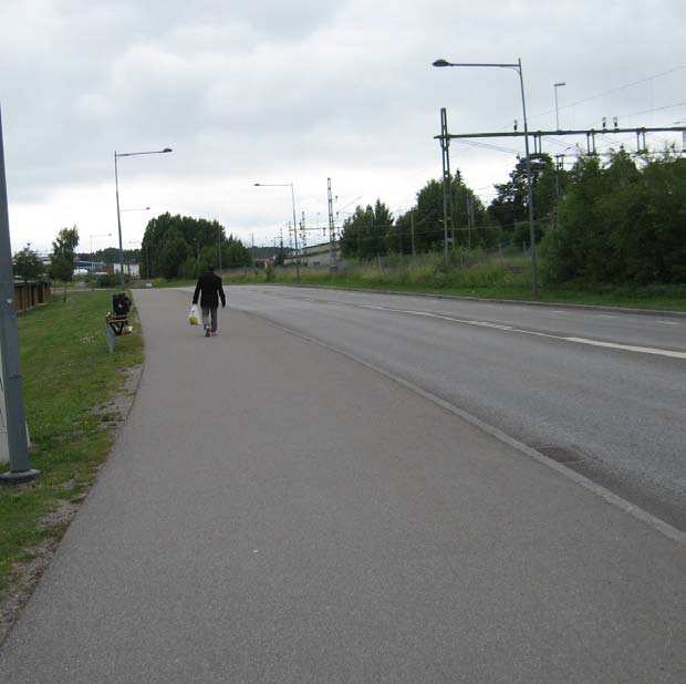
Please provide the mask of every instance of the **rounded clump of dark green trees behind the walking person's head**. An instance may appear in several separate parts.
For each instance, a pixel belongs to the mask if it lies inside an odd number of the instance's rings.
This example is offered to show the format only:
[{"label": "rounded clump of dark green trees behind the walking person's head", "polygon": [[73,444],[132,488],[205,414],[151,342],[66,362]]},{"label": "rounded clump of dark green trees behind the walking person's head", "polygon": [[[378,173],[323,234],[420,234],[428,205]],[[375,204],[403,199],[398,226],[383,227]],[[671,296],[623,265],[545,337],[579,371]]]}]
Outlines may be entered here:
[{"label": "rounded clump of dark green trees behind the walking person's head", "polygon": [[251,263],[250,250],[216,220],[162,214],[148,221],[141,246],[144,278],[196,278],[209,266],[235,268]]}]

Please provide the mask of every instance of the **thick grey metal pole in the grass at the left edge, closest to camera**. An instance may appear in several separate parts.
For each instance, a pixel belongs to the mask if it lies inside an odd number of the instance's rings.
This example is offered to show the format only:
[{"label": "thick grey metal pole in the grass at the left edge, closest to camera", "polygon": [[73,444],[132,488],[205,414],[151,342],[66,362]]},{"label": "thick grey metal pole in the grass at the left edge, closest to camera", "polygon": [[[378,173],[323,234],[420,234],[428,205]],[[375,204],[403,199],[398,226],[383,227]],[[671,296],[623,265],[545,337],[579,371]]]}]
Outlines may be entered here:
[{"label": "thick grey metal pole in the grass at the left edge, closest to camera", "polygon": [[29,441],[21,388],[19,333],[14,300],[14,271],[10,219],[4,178],[4,147],[2,144],[2,116],[0,114],[0,353],[2,354],[2,390],[7,417],[7,439],[10,471],[0,475],[0,483],[19,484],[35,479],[38,470],[29,463]]}]

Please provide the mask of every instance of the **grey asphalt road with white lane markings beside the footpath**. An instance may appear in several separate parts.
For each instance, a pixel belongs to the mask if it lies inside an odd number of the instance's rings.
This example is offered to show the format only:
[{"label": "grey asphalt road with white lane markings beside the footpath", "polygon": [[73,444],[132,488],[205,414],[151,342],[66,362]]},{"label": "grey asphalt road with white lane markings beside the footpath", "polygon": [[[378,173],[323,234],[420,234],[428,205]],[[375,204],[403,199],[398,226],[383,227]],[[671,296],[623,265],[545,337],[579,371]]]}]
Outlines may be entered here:
[{"label": "grey asphalt road with white lane markings beside the footpath", "polygon": [[229,300],[580,458],[569,467],[686,529],[686,318],[269,286]]}]

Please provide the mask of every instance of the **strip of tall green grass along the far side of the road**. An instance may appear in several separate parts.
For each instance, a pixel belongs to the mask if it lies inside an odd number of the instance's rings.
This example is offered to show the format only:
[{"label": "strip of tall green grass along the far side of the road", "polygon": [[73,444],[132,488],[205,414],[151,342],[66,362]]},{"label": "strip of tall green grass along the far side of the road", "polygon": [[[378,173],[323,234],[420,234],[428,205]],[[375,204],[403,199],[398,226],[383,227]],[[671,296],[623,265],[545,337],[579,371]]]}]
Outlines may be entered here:
[{"label": "strip of tall green grass along the far side of the road", "polygon": [[[522,269],[508,271],[505,266]],[[571,282],[550,286],[544,280],[544,263],[539,277],[539,301],[666,309],[686,311],[686,284],[605,286]],[[455,263],[447,269],[440,256],[417,257],[414,263],[392,262],[384,268],[375,265],[352,265],[339,274],[326,269],[301,268],[301,283],[333,288],[381,289],[397,292],[453,294],[484,299],[531,300],[530,267],[522,255],[482,258],[468,255],[465,265]],[[263,270],[236,269],[222,273],[229,284],[268,282]],[[269,282],[293,284],[293,268],[274,269]]]}]

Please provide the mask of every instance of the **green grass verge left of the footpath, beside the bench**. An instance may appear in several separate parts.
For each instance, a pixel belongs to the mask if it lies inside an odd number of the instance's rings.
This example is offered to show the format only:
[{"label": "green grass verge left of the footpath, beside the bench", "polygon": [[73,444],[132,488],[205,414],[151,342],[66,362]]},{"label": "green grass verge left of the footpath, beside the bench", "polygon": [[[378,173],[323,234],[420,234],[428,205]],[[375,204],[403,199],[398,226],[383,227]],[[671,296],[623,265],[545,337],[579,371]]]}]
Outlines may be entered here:
[{"label": "green grass verge left of the footpath, beside the bench", "polygon": [[110,292],[80,292],[66,302],[60,293],[19,317],[31,465],[41,476],[30,485],[0,487],[0,597],[12,563],[62,533],[60,527],[41,527],[40,520],[61,501],[77,500],[112,448],[112,427],[92,410],[122,388],[124,369],[142,363],[143,339],[134,325],[134,334],[108,353],[104,315],[111,301]]}]

